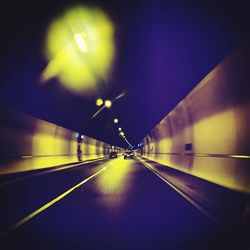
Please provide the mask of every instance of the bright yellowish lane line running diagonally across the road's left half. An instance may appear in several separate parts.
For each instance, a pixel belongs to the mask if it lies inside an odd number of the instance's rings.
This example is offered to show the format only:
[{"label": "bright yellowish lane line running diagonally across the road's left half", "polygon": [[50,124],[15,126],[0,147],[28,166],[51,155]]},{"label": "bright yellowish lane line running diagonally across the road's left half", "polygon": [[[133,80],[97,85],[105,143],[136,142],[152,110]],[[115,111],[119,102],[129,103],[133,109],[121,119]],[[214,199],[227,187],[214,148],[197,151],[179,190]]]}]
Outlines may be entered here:
[{"label": "bright yellowish lane line running diagonally across the road's left half", "polygon": [[[110,166],[112,166],[112,165],[110,165]],[[110,167],[110,166],[108,166],[108,167]],[[13,231],[13,230],[17,229],[18,227],[22,226],[24,223],[26,223],[27,221],[31,220],[33,217],[35,217],[36,215],[38,215],[39,213],[41,213],[45,209],[49,208],[50,206],[52,206],[56,202],[60,201],[62,198],[64,198],[65,196],[67,196],[68,194],[70,194],[71,192],[73,192],[76,188],[82,186],[84,183],[86,183],[87,181],[89,181],[90,179],[92,179],[93,177],[95,177],[96,175],[100,174],[101,172],[103,172],[104,170],[106,170],[108,167],[104,167],[101,170],[97,171],[96,173],[92,174],[88,178],[86,178],[83,181],[81,181],[78,184],[76,184],[74,187],[70,188],[69,190],[67,190],[63,194],[61,194],[58,197],[56,197],[55,199],[53,199],[52,201],[48,202],[47,204],[43,205],[42,207],[40,207],[39,209],[37,209],[33,213],[29,214],[25,218],[21,219],[20,221],[18,221],[14,225],[10,226],[9,228],[7,228],[6,230],[4,230],[3,232],[0,232],[0,238],[5,237],[11,231]]]}]

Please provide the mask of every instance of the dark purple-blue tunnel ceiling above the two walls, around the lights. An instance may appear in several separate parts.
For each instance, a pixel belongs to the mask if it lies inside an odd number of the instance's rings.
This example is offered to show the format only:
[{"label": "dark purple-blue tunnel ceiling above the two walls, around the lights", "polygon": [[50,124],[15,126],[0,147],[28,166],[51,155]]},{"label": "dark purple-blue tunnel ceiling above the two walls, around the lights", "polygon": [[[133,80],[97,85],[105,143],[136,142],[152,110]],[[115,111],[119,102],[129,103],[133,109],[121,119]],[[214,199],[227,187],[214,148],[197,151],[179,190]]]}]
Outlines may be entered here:
[{"label": "dark purple-blue tunnel ceiling above the two walls, around the lights", "polygon": [[[116,55],[104,87],[76,95],[57,79],[39,85],[50,21],[74,1],[6,1],[1,14],[1,104],[96,139],[135,145],[250,33],[248,1],[77,1],[115,25]],[[114,99],[98,110],[98,96]]]}]

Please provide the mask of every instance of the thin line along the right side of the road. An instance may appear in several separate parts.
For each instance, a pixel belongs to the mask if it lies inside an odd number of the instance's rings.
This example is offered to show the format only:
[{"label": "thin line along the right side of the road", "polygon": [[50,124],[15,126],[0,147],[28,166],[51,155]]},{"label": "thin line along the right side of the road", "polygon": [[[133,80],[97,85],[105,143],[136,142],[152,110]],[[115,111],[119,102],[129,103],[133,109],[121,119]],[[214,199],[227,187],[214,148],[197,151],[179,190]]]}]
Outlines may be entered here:
[{"label": "thin line along the right side of the road", "polygon": [[147,169],[152,171],[155,175],[157,175],[162,181],[167,183],[170,187],[172,187],[178,194],[180,194],[183,198],[185,198],[187,201],[189,201],[192,205],[194,205],[196,208],[198,208],[204,215],[206,215],[210,220],[212,220],[217,225],[221,225],[207,210],[202,208],[198,203],[196,203],[193,199],[191,199],[189,196],[187,196],[184,192],[182,192],[180,189],[178,189],[176,186],[174,186],[171,182],[169,182],[167,179],[163,178],[157,171],[154,170],[153,166],[149,163],[146,163],[144,160],[137,158]]}]

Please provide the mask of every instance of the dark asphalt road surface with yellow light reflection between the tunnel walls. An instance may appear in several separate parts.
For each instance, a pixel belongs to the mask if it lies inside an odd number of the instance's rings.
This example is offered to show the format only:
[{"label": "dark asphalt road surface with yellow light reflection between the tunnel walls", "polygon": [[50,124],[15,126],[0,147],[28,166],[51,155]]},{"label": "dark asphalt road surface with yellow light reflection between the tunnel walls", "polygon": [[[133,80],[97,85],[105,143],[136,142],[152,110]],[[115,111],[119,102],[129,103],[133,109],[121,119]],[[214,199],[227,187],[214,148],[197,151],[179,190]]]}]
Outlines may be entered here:
[{"label": "dark asphalt road surface with yellow light reflection between the tunnel walls", "polygon": [[0,179],[0,249],[241,249],[137,159]]}]

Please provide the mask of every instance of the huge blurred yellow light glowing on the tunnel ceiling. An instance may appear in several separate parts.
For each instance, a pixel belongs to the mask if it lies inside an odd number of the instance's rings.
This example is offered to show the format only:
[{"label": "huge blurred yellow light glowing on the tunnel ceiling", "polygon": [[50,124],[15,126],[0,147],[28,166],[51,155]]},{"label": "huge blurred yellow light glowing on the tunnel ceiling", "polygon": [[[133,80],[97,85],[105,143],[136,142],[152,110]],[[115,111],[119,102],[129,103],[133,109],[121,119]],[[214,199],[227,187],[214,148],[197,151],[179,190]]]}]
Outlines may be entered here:
[{"label": "huge blurred yellow light glowing on the tunnel ceiling", "polygon": [[96,7],[72,7],[49,26],[45,45],[45,82],[57,77],[79,94],[95,92],[106,82],[113,62],[114,28]]}]

